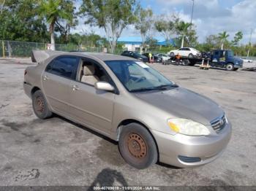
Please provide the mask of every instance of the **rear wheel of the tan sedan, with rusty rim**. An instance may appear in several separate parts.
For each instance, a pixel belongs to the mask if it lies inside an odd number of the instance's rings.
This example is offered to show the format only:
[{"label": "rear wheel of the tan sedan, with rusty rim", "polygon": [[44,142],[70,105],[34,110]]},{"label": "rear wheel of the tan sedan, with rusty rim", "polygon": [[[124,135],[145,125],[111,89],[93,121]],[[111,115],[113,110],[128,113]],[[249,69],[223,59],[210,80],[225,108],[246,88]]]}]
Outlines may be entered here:
[{"label": "rear wheel of the tan sedan, with rusty rim", "polygon": [[32,95],[32,106],[34,109],[34,114],[36,114],[37,117],[42,120],[45,120],[53,115],[53,112],[50,112],[50,109],[48,108],[48,103],[41,90],[37,90]]}]

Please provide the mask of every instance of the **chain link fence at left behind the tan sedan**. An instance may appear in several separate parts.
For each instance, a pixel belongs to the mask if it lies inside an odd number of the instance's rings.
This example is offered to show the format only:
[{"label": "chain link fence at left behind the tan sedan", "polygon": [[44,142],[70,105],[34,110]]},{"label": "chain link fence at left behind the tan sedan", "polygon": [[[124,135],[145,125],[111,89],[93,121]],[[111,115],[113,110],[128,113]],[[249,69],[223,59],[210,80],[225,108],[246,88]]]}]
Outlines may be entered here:
[{"label": "chain link fence at left behind the tan sedan", "polygon": [[[0,40],[0,58],[29,58],[32,50],[47,50],[49,44],[39,42],[18,42]],[[55,44],[59,51],[102,52],[103,47],[78,46],[76,44]]]}]

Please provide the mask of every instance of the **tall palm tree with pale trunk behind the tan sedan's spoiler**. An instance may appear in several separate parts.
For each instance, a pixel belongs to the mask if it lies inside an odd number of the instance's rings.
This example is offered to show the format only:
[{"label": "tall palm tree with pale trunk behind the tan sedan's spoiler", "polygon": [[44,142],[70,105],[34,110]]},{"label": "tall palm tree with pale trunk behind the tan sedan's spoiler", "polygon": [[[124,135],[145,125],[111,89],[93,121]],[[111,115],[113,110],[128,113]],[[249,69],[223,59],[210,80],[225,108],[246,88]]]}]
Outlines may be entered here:
[{"label": "tall palm tree with pale trunk behind the tan sedan's spoiler", "polygon": [[41,0],[39,1],[39,15],[45,17],[49,24],[50,50],[55,50],[54,29],[58,20],[72,19],[72,13],[63,7],[67,1],[63,0]]}]

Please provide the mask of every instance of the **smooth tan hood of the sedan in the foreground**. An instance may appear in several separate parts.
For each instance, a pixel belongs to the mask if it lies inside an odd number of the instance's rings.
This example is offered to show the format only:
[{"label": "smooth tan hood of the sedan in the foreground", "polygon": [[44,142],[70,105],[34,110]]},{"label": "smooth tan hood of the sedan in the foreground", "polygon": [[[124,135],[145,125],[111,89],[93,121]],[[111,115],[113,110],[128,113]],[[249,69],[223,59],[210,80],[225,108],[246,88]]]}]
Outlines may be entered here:
[{"label": "smooth tan hood of the sedan in the foreground", "polygon": [[148,104],[170,113],[170,117],[180,117],[210,125],[212,120],[222,117],[224,111],[211,99],[182,87],[171,90],[136,93],[135,96]]}]

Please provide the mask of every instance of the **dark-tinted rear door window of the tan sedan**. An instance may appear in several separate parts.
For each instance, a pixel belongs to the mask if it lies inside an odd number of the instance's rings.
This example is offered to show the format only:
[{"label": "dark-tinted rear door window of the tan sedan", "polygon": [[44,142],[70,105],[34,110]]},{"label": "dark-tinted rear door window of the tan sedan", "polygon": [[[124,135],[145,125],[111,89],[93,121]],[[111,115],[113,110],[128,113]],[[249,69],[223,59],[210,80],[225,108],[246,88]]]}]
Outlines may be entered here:
[{"label": "dark-tinted rear door window of the tan sedan", "polygon": [[78,58],[75,56],[61,56],[51,61],[45,71],[61,77],[75,79],[77,69]]}]

